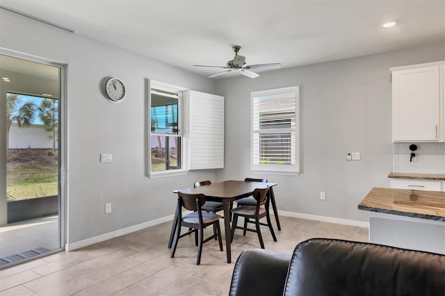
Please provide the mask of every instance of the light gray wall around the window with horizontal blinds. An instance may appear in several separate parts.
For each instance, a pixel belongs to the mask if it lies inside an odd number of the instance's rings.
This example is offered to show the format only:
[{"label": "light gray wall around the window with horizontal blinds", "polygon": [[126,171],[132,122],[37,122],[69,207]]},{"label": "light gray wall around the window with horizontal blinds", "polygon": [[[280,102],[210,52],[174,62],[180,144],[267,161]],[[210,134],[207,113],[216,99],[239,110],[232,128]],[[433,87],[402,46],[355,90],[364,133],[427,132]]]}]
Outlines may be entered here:
[{"label": "light gray wall around the window with horizontal blinds", "polygon": [[[357,204],[373,187],[389,187],[392,170],[390,67],[445,59],[445,44],[319,63],[257,79],[219,80],[226,97],[225,170],[218,180],[261,176],[278,183],[279,210],[368,221]],[[299,176],[250,173],[250,92],[300,85]],[[244,116],[239,116],[243,114]],[[346,161],[346,152],[361,161]],[[326,192],[326,200],[319,192]]]}]

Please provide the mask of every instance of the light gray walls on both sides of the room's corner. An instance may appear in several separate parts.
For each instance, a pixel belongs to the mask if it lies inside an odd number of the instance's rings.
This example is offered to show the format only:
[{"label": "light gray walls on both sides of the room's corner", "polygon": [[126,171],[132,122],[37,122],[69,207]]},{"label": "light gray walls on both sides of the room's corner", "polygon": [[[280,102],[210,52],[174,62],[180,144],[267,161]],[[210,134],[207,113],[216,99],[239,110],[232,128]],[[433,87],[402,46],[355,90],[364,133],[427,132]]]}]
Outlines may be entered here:
[{"label": "light gray walls on both sides of the room's corner", "polygon": [[[261,175],[279,183],[279,209],[367,221],[357,204],[374,186],[389,186],[392,166],[389,67],[445,58],[444,44],[436,44],[266,72],[257,79],[210,80],[1,9],[0,30],[3,49],[68,65],[68,242],[172,215],[172,190],[194,181],[255,176],[249,162],[250,92],[289,85],[300,85],[302,173]],[[127,83],[121,104],[102,95],[99,85],[106,76]],[[226,97],[224,170],[145,176],[147,78]],[[362,161],[347,162],[347,151],[361,152]],[[112,153],[113,163],[99,163],[101,153]],[[321,190],[327,193],[325,202],[318,198]],[[105,215],[108,202],[113,212]]]}]

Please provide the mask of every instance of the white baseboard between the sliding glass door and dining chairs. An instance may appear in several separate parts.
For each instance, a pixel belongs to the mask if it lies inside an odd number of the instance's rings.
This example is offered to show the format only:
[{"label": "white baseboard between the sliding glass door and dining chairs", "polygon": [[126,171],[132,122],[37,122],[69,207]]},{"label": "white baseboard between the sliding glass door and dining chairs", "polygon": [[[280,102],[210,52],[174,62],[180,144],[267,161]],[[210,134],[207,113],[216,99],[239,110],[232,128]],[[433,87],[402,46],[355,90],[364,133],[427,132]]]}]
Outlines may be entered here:
[{"label": "white baseboard between the sliding glass door and dining chairs", "polygon": [[124,236],[125,234],[139,231],[147,227],[152,227],[163,222],[168,222],[173,220],[174,215],[168,215],[166,217],[161,217],[156,220],[144,222],[141,224],[133,225],[131,227],[119,229],[116,231],[111,231],[108,233],[101,234],[100,236],[94,236],[92,238],[87,238],[86,240],[79,240],[78,242],[71,242],[65,244],[65,251],[72,251],[74,249],[79,249],[81,247],[86,247],[88,245],[96,244],[97,242],[103,242],[104,240],[109,240],[111,238],[117,238],[118,236]]}]

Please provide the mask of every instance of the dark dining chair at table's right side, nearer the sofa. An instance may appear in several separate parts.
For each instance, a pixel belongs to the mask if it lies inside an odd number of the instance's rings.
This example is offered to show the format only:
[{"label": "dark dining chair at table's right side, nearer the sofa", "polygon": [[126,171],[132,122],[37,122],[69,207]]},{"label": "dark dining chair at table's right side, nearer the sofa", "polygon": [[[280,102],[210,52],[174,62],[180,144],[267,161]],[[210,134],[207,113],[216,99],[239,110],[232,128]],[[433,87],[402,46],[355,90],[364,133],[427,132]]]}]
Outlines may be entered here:
[{"label": "dark dining chair at table's right side, nearer the sofa", "polygon": [[[264,249],[263,237],[261,236],[260,225],[265,225],[269,227],[270,233],[272,233],[273,241],[277,241],[277,237],[275,236],[275,232],[272,228],[272,223],[270,223],[270,216],[268,215],[268,208],[270,199],[266,198],[268,195],[269,188],[256,188],[253,191],[253,198],[257,202],[255,206],[251,205],[243,205],[237,206],[236,208],[232,208],[232,231],[231,231],[231,241],[234,240],[235,229],[243,229],[243,231],[252,231],[256,232],[259,238],[259,245],[261,245],[261,249]],[[264,206],[264,207],[263,207]],[[245,218],[244,227],[238,227],[238,216]],[[261,218],[266,217],[267,224],[259,222]],[[250,221],[253,219],[254,221]],[[247,222],[246,222],[247,221]],[[255,229],[249,229],[247,227],[247,223],[255,224]]]}]

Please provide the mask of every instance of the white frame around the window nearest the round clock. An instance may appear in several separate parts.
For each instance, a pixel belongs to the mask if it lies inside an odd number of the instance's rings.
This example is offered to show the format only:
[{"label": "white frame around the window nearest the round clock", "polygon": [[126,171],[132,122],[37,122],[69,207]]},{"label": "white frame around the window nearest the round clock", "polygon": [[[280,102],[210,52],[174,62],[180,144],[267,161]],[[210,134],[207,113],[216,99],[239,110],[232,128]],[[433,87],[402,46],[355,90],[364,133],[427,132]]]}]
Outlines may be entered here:
[{"label": "white frame around the window nearest the round clock", "polygon": [[[181,168],[176,170],[162,170],[162,171],[152,171],[152,88],[158,90],[166,90],[168,92],[179,92],[178,97],[178,134],[160,134],[156,135],[162,136],[176,136],[181,138]],[[187,88],[183,88],[176,85],[171,85],[168,83],[163,83],[153,79],[147,79],[147,107],[145,108],[145,135],[146,135],[146,149],[145,154],[147,158],[146,172],[150,179],[160,178],[164,176],[177,176],[181,174],[186,174],[188,172],[188,97],[186,95]]]}]

